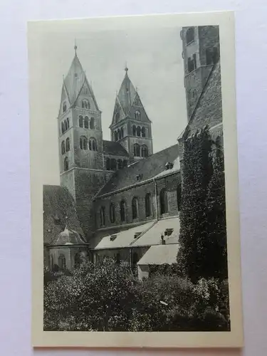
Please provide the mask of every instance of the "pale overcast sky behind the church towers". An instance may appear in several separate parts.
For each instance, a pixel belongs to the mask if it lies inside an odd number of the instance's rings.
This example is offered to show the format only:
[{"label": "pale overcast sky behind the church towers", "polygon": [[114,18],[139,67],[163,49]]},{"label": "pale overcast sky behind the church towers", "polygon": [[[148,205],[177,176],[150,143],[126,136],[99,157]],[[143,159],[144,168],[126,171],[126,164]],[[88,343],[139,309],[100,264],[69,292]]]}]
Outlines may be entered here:
[{"label": "pale overcast sky behind the church towers", "polygon": [[102,111],[103,139],[110,140],[108,127],[115,94],[120,89],[127,61],[128,75],[152,120],[153,147],[157,152],[174,145],[187,122],[180,30],[177,27],[91,32],[75,28],[70,33],[66,27],[66,31],[39,36],[36,51],[40,63],[36,66],[41,75],[36,81],[39,87],[36,90],[43,102],[40,110],[43,137],[49,137],[49,145],[43,152],[44,164],[50,167],[45,184],[59,182],[56,117],[63,75],[68,73],[73,61],[74,41],[78,46],[78,58]]}]

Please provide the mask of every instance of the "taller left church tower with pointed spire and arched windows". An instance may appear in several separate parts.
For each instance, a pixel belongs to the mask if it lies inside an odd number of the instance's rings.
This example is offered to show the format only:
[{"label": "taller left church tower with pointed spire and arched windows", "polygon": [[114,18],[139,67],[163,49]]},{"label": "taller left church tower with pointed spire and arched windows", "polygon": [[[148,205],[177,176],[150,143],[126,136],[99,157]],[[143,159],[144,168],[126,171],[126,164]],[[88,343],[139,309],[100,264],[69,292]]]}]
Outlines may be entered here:
[{"label": "taller left church tower with pointed spire and arched windows", "polygon": [[72,194],[85,235],[95,230],[93,197],[110,177],[103,166],[101,112],[76,53],[63,80],[58,115],[61,186]]}]

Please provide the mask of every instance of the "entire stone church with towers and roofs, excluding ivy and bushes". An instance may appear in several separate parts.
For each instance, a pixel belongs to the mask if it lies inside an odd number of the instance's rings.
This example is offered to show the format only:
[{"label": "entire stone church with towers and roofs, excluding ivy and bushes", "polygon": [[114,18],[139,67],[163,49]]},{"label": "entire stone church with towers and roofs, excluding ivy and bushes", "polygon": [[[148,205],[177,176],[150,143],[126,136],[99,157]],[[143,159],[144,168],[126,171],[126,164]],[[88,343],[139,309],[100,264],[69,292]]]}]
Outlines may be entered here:
[{"label": "entire stone church with towers and roofs, excluding ivy and bushes", "polygon": [[128,68],[115,95],[110,141],[103,140],[101,111],[75,46],[58,112],[61,186],[43,187],[49,268],[71,271],[84,258],[112,257],[142,262],[138,270],[146,276],[155,253],[157,263],[170,263],[160,257],[163,249],[177,251],[183,142],[205,125],[222,137],[218,28],[182,28],[181,38],[188,124],[177,142],[155,153],[152,120]]}]

